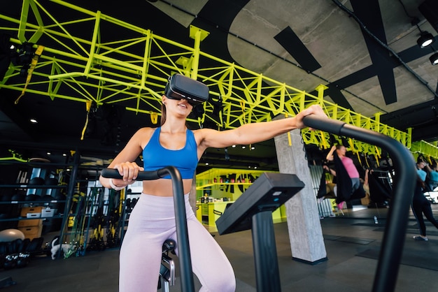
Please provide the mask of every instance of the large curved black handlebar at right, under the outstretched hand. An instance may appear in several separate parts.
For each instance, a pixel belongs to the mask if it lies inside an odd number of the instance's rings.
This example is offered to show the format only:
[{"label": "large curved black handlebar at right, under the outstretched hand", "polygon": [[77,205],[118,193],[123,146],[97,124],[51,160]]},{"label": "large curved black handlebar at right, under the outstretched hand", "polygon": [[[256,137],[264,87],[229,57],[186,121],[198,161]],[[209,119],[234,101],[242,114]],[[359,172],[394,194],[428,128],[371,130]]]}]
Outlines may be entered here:
[{"label": "large curved black handlebar at right, under the outstretched hand", "polygon": [[306,126],[338,136],[356,138],[371,145],[386,149],[395,168],[393,200],[388,210],[388,221],[381,244],[379,263],[374,276],[374,292],[394,291],[406,228],[409,219],[409,206],[416,182],[415,161],[411,153],[397,140],[371,130],[346,124],[335,119],[309,115],[304,117]]}]

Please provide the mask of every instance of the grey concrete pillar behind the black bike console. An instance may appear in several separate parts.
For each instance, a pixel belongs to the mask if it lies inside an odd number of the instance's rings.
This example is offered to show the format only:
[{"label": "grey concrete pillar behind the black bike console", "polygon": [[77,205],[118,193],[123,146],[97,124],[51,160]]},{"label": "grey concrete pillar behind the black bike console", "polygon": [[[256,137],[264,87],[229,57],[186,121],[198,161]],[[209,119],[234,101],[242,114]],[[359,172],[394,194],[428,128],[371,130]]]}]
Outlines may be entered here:
[{"label": "grey concrete pillar behind the black bike console", "polygon": [[299,130],[274,138],[280,173],[297,175],[305,187],[285,203],[292,258],[304,263],[327,261],[316,196]]}]

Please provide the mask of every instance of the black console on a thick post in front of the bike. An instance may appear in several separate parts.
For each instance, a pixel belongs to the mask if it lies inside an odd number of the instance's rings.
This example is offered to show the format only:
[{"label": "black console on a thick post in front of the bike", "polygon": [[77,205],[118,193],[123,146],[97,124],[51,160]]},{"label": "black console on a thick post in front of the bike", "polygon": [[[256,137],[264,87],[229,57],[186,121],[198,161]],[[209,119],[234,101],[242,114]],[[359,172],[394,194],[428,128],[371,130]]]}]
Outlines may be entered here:
[{"label": "black console on a thick post in front of the bike", "polygon": [[220,235],[252,228],[257,291],[281,291],[272,212],[303,187],[296,175],[263,173],[216,220]]}]

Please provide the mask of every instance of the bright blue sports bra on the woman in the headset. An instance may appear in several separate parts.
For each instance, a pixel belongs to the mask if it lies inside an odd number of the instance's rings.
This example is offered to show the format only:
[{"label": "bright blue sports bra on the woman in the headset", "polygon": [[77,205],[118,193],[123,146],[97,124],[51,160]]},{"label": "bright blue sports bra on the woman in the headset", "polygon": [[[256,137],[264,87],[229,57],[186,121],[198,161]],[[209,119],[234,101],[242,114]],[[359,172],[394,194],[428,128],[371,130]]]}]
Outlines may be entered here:
[{"label": "bright blue sports bra on the woman in the headset", "polygon": [[[171,150],[160,144],[161,127],[155,129],[146,147],[143,149],[144,170],[157,170],[166,166],[178,168],[183,179],[192,179],[198,164],[195,135],[190,130],[185,133],[183,149]],[[163,178],[170,179],[170,175]]]}]

